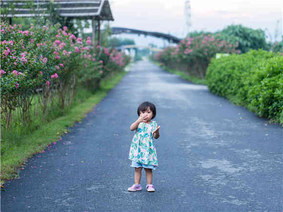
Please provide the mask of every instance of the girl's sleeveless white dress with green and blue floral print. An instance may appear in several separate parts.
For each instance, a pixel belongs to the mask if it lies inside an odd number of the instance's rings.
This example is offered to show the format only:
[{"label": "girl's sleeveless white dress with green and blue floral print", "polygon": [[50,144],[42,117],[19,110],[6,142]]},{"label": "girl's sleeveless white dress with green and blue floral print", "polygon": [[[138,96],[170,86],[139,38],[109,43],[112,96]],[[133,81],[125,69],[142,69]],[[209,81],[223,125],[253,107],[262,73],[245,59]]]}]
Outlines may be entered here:
[{"label": "girl's sleeveless white dress with green and blue floral print", "polygon": [[129,159],[138,163],[158,166],[153,131],[157,128],[156,121],[146,124],[141,122],[133,137]]}]

